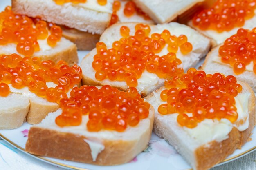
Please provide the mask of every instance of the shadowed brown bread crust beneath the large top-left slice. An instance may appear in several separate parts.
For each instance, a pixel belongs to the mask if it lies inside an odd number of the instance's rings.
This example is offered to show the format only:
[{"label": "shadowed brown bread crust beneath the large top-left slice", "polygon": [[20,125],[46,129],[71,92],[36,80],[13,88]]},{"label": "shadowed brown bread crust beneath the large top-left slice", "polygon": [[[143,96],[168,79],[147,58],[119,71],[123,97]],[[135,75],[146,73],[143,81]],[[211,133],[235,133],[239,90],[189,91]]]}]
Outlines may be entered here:
[{"label": "shadowed brown bread crust beneath the large top-left slice", "polygon": [[62,36],[76,44],[78,50],[92,50],[99,42],[101,35],[79,31],[77,29],[62,28]]}]

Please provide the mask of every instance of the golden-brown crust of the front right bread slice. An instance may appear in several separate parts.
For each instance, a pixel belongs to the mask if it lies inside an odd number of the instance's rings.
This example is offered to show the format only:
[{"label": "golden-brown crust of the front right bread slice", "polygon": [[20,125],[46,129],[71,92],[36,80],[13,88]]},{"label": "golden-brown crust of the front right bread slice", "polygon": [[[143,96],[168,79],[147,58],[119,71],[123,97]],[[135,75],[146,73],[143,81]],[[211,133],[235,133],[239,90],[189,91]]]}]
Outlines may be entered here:
[{"label": "golden-brown crust of the front right bread slice", "polygon": [[[217,142],[211,141],[208,144],[202,145],[194,151],[194,158],[195,158],[195,168],[196,170],[208,170],[209,168],[213,167],[214,165],[223,161],[228,155],[232,154],[236,149],[239,149],[243,146],[249,139],[251,132],[255,126],[255,102],[256,98],[252,88],[245,82],[238,81],[238,84],[243,86],[243,91],[247,91],[251,93],[249,97],[249,128],[240,132],[237,128],[233,128],[231,132],[229,132],[228,139],[224,141]],[[164,88],[160,88],[157,91],[162,91]],[[151,93],[145,99],[149,101],[154,94]],[[159,114],[159,113],[156,113]],[[158,124],[161,122],[158,119],[155,119],[154,122],[154,132],[162,136],[162,129],[158,127]],[[175,146],[176,148],[176,146]],[[179,152],[179,148],[177,148]]]}]

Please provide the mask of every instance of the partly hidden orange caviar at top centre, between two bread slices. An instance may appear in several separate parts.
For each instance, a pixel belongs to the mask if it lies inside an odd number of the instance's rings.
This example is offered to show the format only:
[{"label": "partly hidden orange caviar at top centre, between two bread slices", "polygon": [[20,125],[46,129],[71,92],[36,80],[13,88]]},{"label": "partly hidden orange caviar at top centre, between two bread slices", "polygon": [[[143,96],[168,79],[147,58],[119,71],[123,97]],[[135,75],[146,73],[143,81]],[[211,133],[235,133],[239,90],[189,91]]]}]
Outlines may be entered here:
[{"label": "partly hidden orange caviar at top centre, between two bread slices", "polygon": [[[117,11],[119,11],[120,7],[121,7],[120,0],[115,0],[113,3],[113,13],[111,16],[110,25],[118,22],[119,18],[117,16]],[[135,13],[139,16],[142,16],[145,20],[151,19],[146,13],[141,11],[140,8],[136,7],[136,4],[134,2],[129,0],[128,2],[126,2],[125,7],[124,7],[124,15],[126,17],[131,17],[131,16],[135,15]]]}]

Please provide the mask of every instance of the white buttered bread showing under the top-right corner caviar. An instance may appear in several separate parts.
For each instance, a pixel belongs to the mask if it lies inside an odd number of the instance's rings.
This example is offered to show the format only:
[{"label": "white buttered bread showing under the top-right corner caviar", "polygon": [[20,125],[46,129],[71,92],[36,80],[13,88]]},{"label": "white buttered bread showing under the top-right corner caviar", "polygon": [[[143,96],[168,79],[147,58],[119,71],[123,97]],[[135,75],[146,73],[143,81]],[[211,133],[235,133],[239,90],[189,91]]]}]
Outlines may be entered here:
[{"label": "white buttered bread showing under the top-right corner caviar", "polygon": [[[254,11],[254,13],[256,10]],[[223,31],[222,33],[218,33],[215,30],[201,30],[198,27],[194,26],[192,23],[192,20],[188,22],[188,25],[192,28],[198,30],[200,33],[204,34],[205,36],[211,38],[212,40],[212,46],[220,45],[225,42],[225,40],[232,35],[236,34],[237,30],[240,29],[240,27],[235,27],[231,31]],[[254,15],[253,18],[250,18],[248,20],[245,20],[244,26],[242,26],[243,29],[249,29],[252,30],[256,25],[256,15]]]}]

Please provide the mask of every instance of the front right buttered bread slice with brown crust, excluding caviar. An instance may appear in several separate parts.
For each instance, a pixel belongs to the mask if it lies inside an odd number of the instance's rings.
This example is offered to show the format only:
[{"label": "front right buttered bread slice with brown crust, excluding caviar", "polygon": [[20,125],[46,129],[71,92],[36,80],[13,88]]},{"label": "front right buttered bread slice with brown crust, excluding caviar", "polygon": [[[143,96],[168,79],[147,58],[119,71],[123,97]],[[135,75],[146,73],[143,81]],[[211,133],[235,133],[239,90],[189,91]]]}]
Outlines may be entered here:
[{"label": "front right buttered bread slice with brown crust, excluding caviar", "polygon": [[243,125],[235,127],[240,123],[239,117],[242,115],[240,112],[238,112],[238,120],[233,125],[227,119],[221,119],[215,123],[208,119],[199,123],[197,127],[189,129],[181,127],[177,123],[176,113],[160,115],[157,112],[158,106],[166,103],[160,98],[164,87],[145,98],[155,108],[154,132],[159,137],[166,139],[190,163],[193,170],[208,170],[223,161],[234,150],[243,146],[249,139],[255,126],[256,100],[254,92],[248,84],[239,81],[238,84],[243,86],[242,92],[238,95],[246,96],[238,98],[240,109],[248,111],[246,116],[249,125],[246,130],[243,127],[243,131],[238,130]]}]

